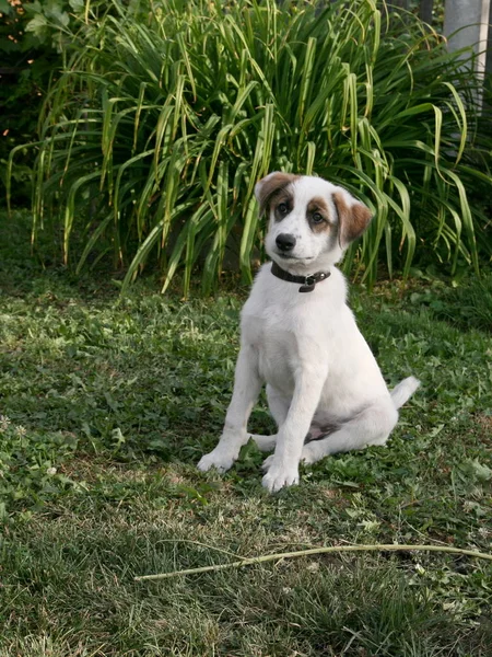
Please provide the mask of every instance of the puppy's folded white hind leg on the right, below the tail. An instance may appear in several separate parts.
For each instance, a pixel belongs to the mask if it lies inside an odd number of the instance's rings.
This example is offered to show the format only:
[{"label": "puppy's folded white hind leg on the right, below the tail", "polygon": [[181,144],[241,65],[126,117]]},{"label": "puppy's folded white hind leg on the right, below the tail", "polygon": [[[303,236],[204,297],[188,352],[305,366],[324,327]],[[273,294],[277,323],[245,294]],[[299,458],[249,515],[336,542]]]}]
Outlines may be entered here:
[{"label": "puppy's folded white hind leg on the right, below the tail", "polygon": [[301,461],[316,463],[329,454],[385,445],[397,420],[398,412],[393,404],[368,406],[326,438],[304,445]]}]

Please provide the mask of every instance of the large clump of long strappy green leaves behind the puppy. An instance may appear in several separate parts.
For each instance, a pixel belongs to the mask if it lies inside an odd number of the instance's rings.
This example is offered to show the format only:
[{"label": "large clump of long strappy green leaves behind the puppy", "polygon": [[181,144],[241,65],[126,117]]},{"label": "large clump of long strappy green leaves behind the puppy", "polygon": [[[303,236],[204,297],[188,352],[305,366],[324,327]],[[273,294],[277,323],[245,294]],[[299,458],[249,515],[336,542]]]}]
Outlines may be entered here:
[{"label": "large clump of long strappy green leaves behind the puppy", "polygon": [[35,232],[58,208],[66,262],[77,233],[79,269],[112,253],[128,285],[152,257],[163,290],[183,268],[186,293],[200,265],[208,292],[236,241],[247,281],[263,231],[253,189],[272,170],[316,172],[374,208],[345,260],[368,283],[382,257],[407,275],[415,251],[452,269],[490,253],[471,54],[412,14],[371,0],[108,4],[85,7],[36,145]]}]

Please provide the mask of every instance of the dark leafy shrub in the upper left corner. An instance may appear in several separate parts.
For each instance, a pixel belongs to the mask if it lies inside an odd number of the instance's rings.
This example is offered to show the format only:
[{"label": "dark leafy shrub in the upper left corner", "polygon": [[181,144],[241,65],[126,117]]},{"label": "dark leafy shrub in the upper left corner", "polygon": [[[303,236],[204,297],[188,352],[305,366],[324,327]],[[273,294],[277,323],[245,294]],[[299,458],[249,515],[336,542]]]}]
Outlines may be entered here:
[{"label": "dark leafy shrub in the upper left corner", "polygon": [[[103,11],[103,0],[92,0],[93,12]],[[34,157],[25,145],[38,134],[39,114],[50,81],[63,67],[63,53],[84,0],[0,0],[0,53],[5,64],[0,71],[0,181],[7,183],[9,152],[16,148],[11,165],[11,201],[30,203]],[[75,13],[73,13],[75,11]]]}]

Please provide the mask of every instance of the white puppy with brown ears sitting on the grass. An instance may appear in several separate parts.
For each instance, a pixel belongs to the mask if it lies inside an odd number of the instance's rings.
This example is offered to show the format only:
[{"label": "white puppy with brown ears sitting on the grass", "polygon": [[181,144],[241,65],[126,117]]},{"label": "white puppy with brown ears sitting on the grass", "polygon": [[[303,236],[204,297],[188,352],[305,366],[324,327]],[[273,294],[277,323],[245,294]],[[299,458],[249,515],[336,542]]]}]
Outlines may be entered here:
[{"label": "white puppy with brown ears sitting on the grass", "polygon": [[[366,229],[368,208],[312,176],[270,173],[255,193],[269,217],[273,262],[261,267],[243,308],[224,429],[198,468],[229,470],[251,437],[262,451],[274,449],[262,481],[274,492],[298,482],[300,461],[384,445],[419,381],[409,377],[388,391],[335,267]],[[247,422],[263,382],[278,433],[250,436]]]}]

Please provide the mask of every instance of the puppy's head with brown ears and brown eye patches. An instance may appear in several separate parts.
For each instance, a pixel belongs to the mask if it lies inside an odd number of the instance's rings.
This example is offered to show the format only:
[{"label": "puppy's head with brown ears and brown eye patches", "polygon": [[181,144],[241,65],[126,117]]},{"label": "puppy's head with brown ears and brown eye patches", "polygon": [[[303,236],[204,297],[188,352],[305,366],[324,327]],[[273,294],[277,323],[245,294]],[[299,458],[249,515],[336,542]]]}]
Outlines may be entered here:
[{"label": "puppy's head with brown ears and brown eye patches", "polygon": [[319,177],[270,173],[257,183],[255,194],[260,214],[269,218],[267,253],[292,273],[337,263],[372,218],[347,189]]}]

